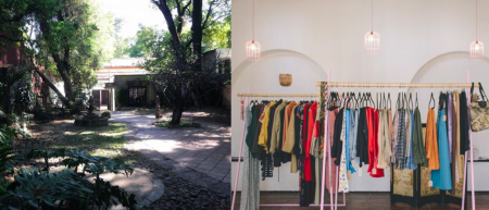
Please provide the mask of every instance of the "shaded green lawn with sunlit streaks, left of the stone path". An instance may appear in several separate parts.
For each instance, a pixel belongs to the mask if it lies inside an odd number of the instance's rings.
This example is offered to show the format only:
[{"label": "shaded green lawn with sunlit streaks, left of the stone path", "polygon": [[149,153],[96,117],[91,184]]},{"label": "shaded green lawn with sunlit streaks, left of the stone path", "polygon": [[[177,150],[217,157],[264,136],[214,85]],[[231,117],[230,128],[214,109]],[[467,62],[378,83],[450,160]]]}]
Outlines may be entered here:
[{"label": "shaded green lawn with sunlit streaks, left of the stone path", "polygon": [[[53,121],[29,126],[30,138],[14,139],[13,148],[17,155],[25,156],[32,149],[76,149],[85,150],[92,156],[121,158],[134,164],[137,158],[124,149],[127,126],[123,123],[110,123],[104,127],[78,127],[73,121]],[[23,168],[40,166],[41,160],[24,160]],[[58,159],[50,160],[52,166],[59,165]]]}]

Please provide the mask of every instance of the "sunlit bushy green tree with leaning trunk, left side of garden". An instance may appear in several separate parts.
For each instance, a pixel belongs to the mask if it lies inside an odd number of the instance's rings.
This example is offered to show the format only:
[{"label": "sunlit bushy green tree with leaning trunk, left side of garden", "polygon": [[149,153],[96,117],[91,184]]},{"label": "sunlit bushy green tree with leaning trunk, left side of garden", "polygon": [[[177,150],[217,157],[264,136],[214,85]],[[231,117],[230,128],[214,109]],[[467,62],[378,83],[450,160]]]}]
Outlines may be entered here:
[{"label": "sunlit bushy green tree with leaning trunk, left side of garden", "polygon": [[[97,84],[93,70],[111,57],[105,40],[111,28],[106,15],[98,15],[92,1],[60,1],[59,10],[35,14],[38,23],[37,58],[45,66],[54,64],[55,75],[64,82],[64,92],[74,101],[74,88],[90,88]],[[51,71],[53,71],[51,69]],[[54,71],[53,71],[54,72]],[[70,107],[64,101],[66,107]]]}]

